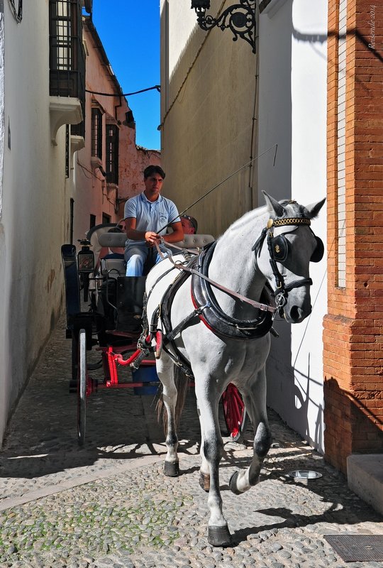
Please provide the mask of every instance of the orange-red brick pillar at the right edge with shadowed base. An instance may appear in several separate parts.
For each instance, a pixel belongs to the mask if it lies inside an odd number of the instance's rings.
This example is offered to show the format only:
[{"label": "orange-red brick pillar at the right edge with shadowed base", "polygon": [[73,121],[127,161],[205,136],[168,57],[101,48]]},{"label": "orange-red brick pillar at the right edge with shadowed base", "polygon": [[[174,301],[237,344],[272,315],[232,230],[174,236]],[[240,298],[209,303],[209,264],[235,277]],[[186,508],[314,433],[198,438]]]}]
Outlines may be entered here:
[{"label": "orange-red brick pillar at the right edge with shadowed base", "polygon": [[328,34],[325,452],[346,473],[349,454],[383,452],[383,5],[329,0]]}]

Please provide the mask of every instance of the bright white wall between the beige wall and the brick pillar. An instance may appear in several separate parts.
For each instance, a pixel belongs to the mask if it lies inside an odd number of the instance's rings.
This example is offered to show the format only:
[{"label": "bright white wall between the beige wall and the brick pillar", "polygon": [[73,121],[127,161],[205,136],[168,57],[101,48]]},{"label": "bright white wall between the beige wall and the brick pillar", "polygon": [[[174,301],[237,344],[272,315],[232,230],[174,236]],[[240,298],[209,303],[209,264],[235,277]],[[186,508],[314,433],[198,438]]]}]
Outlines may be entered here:
[{"label": "bright white wall between the beige wall and the brick pillar", "polygon": [[[260,160],[258,187],[277,199],[326,197],[326,33],[324,0],[272,0],[260,15],[259,151],[278,147],[274,166],[274,156]],[[326,241],[326,205],[312,228]],[[321,451],[325,274],[326,260],[311,264],[313,312],[292,327],[276,323],[267,365],[268,403]]]}]

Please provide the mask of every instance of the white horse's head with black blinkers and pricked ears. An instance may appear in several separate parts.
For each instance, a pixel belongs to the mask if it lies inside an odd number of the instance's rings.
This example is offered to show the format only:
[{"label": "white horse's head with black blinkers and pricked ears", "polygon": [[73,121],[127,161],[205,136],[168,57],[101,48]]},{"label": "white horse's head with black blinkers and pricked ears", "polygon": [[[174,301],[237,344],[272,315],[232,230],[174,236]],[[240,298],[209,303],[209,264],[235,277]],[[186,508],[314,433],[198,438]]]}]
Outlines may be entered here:
[{"label": "white horse's head with black blinkers and pricked ears", "polygon": [[274,290],[279,313],[299,323],[311,313],[310,262],[320,261],[324,249],[310,223],[326,200],[304,207],[263,194],[270,219],[253,246],[257,267]]}]

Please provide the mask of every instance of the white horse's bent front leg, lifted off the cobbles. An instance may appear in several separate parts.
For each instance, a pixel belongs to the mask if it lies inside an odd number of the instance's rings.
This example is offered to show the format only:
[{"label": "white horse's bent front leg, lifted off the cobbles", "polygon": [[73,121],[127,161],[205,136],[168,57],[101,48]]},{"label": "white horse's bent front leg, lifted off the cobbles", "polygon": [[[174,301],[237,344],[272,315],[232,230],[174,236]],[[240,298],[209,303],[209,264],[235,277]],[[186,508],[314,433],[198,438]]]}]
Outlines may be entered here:
[{"label": "white horse's bent front leg, lifted off the cobbles", "polygon": [[260,481],[263,460],[270,449],[272,435],[266,409],[266,375],[263,367],[250,386],[250,393],[245,393],[245,406],[254,427],[253,454],[247,469],[235,471],[231,476],[230,488],[239,495]]}]

